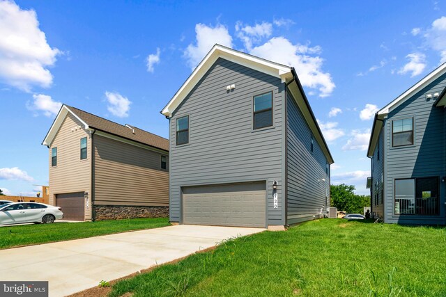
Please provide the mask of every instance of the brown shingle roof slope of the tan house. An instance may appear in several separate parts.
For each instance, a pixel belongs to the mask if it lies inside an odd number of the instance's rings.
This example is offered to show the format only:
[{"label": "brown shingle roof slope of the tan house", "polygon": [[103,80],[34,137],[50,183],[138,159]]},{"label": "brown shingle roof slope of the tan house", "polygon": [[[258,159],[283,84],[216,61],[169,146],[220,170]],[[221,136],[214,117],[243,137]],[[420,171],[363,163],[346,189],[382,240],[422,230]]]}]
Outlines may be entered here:
[{"label": "brown shingle roof slope of the tan house", "polygon": [[75,115],[77,115],[93,129],[98,129],[109,134],[127,138],[131,141],[137,141],[138,143],[142,143],[144,145],[150,145],[161,150],[169,151],[169,141],[166,138],[151,134],[148,131],[144,131],[137,127],[130,125],[127,125],[128,127],[126,127],[116,122],[112,122],[111,120],[105,120],[105,118],[98,117],[98,115],[87,113],[86,111],[76,109],[72,106],[66,106],[68,109],[70,109],[70,111],[72,111],[72,113],[75,113]]}]

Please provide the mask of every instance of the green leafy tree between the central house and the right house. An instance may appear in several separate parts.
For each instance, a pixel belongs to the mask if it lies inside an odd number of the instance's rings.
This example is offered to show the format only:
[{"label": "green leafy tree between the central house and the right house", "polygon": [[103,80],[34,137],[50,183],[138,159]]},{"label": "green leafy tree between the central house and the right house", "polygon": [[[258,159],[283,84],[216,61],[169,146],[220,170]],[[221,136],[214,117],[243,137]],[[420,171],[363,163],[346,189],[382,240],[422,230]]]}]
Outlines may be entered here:
[{"label": "green leafy tree between the central house and the right house", "polygon": [[346,211],[347,214],[362,214],[364,207],[370,206],[370,196],[356,195],[355,186],[347,184],[331,185],[330,206],[336,207],[339,211]]}]

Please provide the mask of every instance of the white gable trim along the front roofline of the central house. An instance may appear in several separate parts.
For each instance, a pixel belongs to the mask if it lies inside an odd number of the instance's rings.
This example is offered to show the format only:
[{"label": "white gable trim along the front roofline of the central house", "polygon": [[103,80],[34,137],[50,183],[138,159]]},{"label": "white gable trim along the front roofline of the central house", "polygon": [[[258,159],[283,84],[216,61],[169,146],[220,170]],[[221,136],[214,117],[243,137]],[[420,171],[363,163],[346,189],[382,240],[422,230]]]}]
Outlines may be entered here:
[{"label": "white gable trim along the front roofline of the central house", "polygon": [[183,86],[176,92],[174,97],[169,103],[162,109],[161,113],[167,117],[171,117],[175,109],[183,102],[183,99],[190,93],[192,88],[198,83],[209,68],[217,61],[218,58],[224,58],[233,63],[238,63],[245,67],[258,70],[260,72],[270,74],[273,77],[282,79],[282,82],[291,79],[291,67],[273,63],[263,60],[256,56],[251,56],[240,51],[222,47],[221,45],[214,45],[214,47],[208,52],[208,54],[199,63],[197,68],[190,74],[190,77],[183,83]]}]

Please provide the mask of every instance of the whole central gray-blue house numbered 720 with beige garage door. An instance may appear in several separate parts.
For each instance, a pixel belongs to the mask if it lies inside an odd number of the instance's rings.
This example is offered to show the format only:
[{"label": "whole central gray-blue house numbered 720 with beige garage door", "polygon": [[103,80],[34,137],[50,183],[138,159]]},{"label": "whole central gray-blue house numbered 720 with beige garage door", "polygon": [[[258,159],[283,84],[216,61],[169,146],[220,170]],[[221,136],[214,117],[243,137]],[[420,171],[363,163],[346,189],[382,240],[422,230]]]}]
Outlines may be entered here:
[{"label": "whole central gray-blue house numbered 720 with beige garage door", "polygon": [[161,112],[171,222],[283,230],[330,204],[333,159],[292,67],[215,45]]}]

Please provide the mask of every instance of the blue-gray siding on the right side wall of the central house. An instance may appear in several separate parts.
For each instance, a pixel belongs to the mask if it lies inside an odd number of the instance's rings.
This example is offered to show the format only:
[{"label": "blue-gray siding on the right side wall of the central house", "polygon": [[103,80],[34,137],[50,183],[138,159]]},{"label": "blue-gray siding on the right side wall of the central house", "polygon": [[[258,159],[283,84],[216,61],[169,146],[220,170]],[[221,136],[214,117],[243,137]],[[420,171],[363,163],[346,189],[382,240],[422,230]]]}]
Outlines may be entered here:
[{"label": "blue-gray siding on the right side wall of the central house", "polygon": [[[287,224],[312,220],[321,208],[330,205],[330,168],[325,172],[327,159],[314,140],[312,131],[298,109],[290,92],[286,93],[287,113]],[[322,181],[325,179],[325,182]],[[319,182],[320,181],[320,182]]]}]

